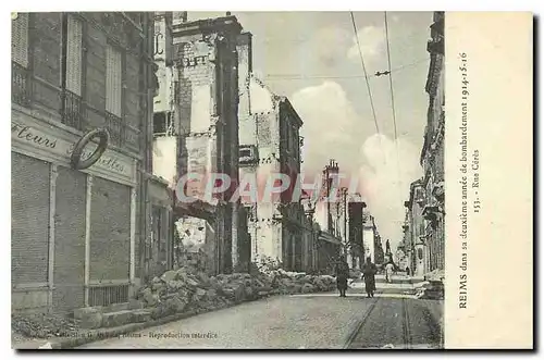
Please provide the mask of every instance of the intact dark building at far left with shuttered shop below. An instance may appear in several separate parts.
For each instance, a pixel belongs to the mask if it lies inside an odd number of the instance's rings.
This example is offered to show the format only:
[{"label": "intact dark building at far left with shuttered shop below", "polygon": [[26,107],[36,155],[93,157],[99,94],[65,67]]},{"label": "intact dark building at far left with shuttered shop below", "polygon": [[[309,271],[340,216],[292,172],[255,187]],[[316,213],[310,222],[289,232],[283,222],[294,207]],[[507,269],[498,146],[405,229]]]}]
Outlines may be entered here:
[{"label": "intact dark building at far left with shuttered shop below", "polygon": [[[150,187],[165,191],[150,175],[152,32],[148,13],[12,17],[14,310],[125,302],[146,276]],[[77,170],[97,128],[106,152]]]}]

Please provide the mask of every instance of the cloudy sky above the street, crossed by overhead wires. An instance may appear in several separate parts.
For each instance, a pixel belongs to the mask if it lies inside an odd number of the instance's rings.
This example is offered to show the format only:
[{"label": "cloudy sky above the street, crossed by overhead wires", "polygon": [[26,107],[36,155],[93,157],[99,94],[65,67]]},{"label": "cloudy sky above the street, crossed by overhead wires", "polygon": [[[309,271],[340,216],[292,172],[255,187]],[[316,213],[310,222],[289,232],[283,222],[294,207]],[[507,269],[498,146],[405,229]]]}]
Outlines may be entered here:
[{"label": "cloudy sky above the street, crossed by overhead wires", "polygon": [[[341,172],[358,176],[382,239],[395,248],[409,185],[422,175],[432,12],[387,12],[396,140],[390,79],[373,76],[388,70],[384,12],[354,12],[376,122],[349,12],[232,14],[254,35],[254,73],[287,96],[304,122],[304,172],[320,173],[335,159]],[[189,12],[188,20],[224,15]]]}]

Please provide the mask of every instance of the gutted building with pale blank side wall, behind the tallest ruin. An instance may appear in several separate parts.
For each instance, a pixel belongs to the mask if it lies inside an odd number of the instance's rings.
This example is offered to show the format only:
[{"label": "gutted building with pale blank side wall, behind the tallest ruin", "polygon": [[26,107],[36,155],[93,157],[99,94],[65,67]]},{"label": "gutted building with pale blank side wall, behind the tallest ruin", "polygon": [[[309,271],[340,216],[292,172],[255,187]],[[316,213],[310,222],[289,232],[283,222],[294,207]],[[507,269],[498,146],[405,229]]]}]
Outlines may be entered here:
[{"label": "gutted building with pale blank side wall, behind the tallest ruin", "polygon": [[[311,224],[300,199],[290,194],[299,181],[302,121],[286,97],[275,95],[252,74],[251,34],[238,37],[237,52],[240,178],[255,181],[259,189],[257,197],[243,197],[251,259],[301,271],[309,264],[305,249],[310,240],[305,233],[311,232]],[[260,198],[274,174],[288,175],[289,188],[272,199]]]}]

